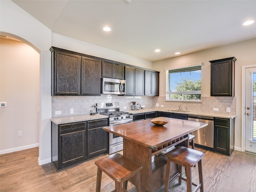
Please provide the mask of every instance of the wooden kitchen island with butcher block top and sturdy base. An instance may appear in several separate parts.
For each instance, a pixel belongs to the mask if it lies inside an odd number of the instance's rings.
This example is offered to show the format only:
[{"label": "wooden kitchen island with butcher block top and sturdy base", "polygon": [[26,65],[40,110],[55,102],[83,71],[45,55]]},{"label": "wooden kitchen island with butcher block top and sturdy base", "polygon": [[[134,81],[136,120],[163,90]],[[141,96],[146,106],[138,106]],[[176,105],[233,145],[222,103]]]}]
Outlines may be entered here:
[{"label": "wooden kitchen island with butcher block top and sturdy base", "polygon": [[[201,122],[167,117],[165,119],[169,122],[164,126],[156,126],[150,122],[152,119],[147,119],[103,128],[123,137],[124,156],[142,166],[140,182],[144,192],[155,192],[164,185],[166,158],[159,154],[182,142],[188,146],[188,134],[207,126]],[[151,158],[154,155],[155,160],[152,163]],[[170,174],[174,176],[177,166],[172,164],[170,169]],[[135,184],[134,178],[129,181]]]}]

